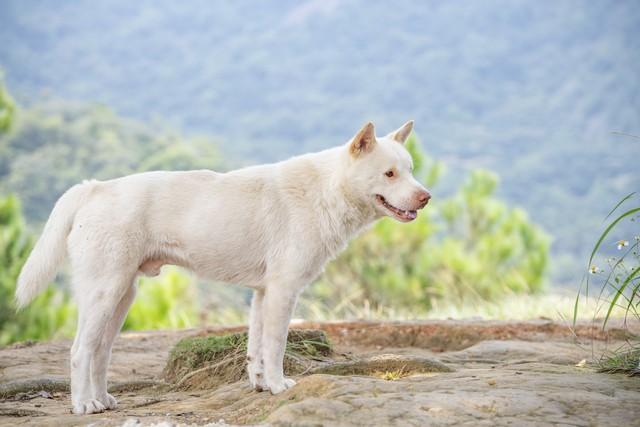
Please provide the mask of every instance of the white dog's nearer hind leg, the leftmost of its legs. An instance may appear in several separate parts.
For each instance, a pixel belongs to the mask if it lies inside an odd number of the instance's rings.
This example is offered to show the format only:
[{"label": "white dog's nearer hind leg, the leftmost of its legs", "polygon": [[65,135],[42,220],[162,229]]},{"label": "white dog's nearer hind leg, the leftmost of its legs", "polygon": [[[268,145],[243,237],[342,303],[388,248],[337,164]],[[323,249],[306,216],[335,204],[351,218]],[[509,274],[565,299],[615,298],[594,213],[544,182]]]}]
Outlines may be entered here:
[{"label": "white dog's nearer hind leg, the leftmost of its legs", "polygon": [[94,397],[91,362],[100,348],[109,321],[114,317],[114,310],[129,290],[132,280],[133,275],[116,273],[111,277],[100,277],[74,272],[79,322],[71,352],[71,401],[75,414],[93,414],[106,409]]}]

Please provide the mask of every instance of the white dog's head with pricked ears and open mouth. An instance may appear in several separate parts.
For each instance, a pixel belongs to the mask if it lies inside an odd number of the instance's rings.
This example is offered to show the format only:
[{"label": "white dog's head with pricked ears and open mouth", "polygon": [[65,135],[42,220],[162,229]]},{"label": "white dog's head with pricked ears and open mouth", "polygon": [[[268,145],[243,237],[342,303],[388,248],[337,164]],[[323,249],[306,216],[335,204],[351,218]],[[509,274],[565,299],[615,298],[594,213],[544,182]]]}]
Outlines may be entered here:
[{"label": "white dog's head with pricked ears and open mouth", "polygon": [[413,121],[385,137],[376,138],[367,123],[349,142],[349,185],[371,203],[380,215],[413,221],[431,195],[413,177],[413,160],[404,143]]}]

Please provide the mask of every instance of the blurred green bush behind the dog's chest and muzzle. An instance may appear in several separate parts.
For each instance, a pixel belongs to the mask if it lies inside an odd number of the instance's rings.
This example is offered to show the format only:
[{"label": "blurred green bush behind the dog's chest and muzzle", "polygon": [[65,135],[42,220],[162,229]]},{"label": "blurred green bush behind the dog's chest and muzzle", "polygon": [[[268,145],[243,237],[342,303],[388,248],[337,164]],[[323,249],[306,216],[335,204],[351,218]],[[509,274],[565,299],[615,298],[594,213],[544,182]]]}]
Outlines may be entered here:
[{"label": "blurred green bush behind the dog's chest and muzzle", "polygon": [[[408,148],[432,188],[442,165],[423,158],[415,137]],[[424,312],[541,291],[549,239],[523,210],[496,198],[497,184],[495,174],[473,171],[452,196],[436,193],[412,223],[378,222],[327,266],[312,298]]]}]

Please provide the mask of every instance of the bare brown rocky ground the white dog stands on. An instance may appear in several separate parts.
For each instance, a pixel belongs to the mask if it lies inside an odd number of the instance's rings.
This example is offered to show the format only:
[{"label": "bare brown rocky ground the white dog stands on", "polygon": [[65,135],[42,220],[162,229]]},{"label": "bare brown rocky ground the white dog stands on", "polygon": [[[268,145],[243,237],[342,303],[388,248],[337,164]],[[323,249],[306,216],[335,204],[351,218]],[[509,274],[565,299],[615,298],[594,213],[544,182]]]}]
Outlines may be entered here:
[{"label": "bare brown rocky ground the white dog stands on", "polygon": [[75,416],[70,342],[14,345],[0,349],[0,425],[640,425],[640,378],[597,373],[589,363],[624,342],[621,329],[572,332],[549,321],[294,327],[324,330],[336,366],[353,362],[357,370],[311,370],[277,396],[245,380],[176,388],[163,369],[179,339],[241,328],[126,333],[110,371],[119,408]]}]

